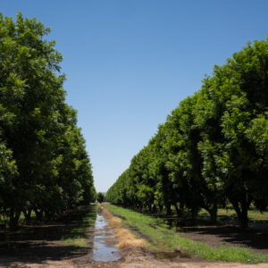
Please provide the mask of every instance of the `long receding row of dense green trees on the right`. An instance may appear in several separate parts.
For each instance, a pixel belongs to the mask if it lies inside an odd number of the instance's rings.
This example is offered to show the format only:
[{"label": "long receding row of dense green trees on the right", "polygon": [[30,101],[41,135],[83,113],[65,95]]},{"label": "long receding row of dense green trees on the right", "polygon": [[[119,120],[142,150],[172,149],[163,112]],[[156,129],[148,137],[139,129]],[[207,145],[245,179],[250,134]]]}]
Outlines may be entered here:
[{"label": "long receding row of dense green trees on the right", "polygon": [[231,204],[241,226],[268,205],[268,38],[248,43],[167,116],[106,200],[212,222]]}]

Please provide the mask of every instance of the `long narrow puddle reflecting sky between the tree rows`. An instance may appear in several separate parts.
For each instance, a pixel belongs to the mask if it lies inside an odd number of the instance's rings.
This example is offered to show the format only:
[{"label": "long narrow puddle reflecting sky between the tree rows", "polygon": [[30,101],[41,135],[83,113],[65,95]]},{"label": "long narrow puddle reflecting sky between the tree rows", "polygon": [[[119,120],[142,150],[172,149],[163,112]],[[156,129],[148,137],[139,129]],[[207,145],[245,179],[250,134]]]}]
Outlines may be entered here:
[{"label": "long narrow puddle reflecting sky between the tree rows", "polygon": [[97,210],[95,222],[95,235],[93,240],[93,252],[90,257],[96,262],[114,262],[121,257],[114,238],[113,230],[109,226],[108,220],[104,217],[101,210]]}]

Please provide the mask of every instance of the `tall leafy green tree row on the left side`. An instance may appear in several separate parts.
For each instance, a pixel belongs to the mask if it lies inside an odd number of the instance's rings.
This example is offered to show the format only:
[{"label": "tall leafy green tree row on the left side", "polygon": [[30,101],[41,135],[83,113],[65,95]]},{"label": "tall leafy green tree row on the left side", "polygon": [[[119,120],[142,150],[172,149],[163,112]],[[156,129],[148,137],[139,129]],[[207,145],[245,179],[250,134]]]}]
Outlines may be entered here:
[{"label": "tall leafy green tree row on the left side", "polygon": [[41,219],[96,200],[77,112],[65,102],[62,54],[36,18],[0,14],[0,215]]}]

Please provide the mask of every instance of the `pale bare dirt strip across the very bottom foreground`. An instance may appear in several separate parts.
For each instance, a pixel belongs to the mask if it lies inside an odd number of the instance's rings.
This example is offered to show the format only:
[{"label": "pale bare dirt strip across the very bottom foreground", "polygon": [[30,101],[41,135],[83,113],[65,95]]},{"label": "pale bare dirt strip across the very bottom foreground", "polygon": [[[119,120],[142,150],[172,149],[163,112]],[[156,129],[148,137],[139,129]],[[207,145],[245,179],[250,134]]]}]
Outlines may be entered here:
[{"label": "pale bare dirt strip across the very bottom foreground", "polygon": [[[17,256],[6,256],[0,257],[0,267],[32,267],[32,268],[43,268],[43,267],[92,267],[92,268],[267,268],[268,264],[237,264],[237,263],[223,263],[223,262],[205,262],[204,260],[185,260],[180,258],[175,259],[158,259],[155,255],[152,255],[146,249],[142,247],[122,247],[121,248],[121,260],[117,262],[92,262],[88,261],[88,255],[80,257],[75,256],[62,256],[56,255],[56,251],[53,258],[38,257],[19,257]],[[39,255],[40,256],[40,255]]]}]

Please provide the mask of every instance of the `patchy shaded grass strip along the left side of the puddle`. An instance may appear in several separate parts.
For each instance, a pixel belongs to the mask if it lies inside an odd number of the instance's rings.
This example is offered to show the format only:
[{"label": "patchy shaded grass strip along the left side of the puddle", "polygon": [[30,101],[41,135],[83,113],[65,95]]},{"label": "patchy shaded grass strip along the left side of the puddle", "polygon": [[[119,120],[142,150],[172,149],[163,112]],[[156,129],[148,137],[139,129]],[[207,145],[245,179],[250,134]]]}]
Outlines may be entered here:
[{"label": "patchy shaded grass strip along the left side of the puddle", "polygon": [[92,205],[88,214],[82,219],[79,227],[73,228],[68,235],[62,238],[64,244],[75,247],[86,247],[88,244],[89,228],[96,221],[96,205]]}]

